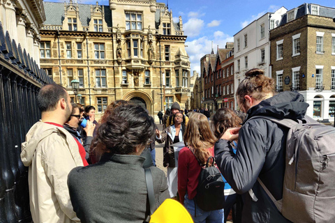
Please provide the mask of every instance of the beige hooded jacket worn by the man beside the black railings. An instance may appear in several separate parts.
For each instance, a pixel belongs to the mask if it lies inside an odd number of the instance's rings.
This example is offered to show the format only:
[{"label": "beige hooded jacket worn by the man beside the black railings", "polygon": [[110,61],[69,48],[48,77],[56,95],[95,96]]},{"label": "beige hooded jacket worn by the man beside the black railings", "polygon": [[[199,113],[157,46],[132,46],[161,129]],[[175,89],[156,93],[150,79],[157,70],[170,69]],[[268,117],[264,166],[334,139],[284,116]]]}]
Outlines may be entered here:
[{"label": "beige hooded jacket worn by the man beside the black railings", "polygon": [[39,121],[22,143],[29,167],[30,210],[35,223],[80,222],[68,193],[68,173],[83,166],[77,143],[64,128]]}]

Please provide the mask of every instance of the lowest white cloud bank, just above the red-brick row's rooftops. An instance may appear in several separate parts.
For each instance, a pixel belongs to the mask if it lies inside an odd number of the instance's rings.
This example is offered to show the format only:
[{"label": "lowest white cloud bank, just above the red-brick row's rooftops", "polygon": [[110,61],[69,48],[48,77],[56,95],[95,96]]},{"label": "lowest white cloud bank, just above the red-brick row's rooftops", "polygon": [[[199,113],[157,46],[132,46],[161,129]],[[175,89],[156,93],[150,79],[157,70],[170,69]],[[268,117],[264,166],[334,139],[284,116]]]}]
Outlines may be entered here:
[{"label": "lowest white cloud bank, just above the red-brick row's rooftops", "polygon": [[191,62],[191,72],[196,70],[200,73],[200,59],[205,54],[211,53],[211,41],[213,41],[214,53],[216,53],[217,45],[220,48],[224,48],[227,42],[233,42],[234,37],[229,36],[228,34],[223,33],[222,31],[216,31],[214,33],[214,38],[208,38],[203,36],[201,38],[186,42],[186,52],[190,56]]}]

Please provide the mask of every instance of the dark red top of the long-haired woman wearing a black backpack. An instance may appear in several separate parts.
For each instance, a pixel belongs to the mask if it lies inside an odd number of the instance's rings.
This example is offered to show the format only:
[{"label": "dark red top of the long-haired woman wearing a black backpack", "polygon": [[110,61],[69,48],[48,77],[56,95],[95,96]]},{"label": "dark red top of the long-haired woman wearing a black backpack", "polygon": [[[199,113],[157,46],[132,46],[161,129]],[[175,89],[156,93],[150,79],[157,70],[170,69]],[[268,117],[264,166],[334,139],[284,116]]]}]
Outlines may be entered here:
[{"label": "dark red top of the long-haired woman wearing a black backpack", "polygon": [[[214,146],[209,150],[214,156]],[[178,157],[178,194],[182,204],[184,204],[186,192],[188,193],[188,199],[193,199],[197,195],[201,169],[202,167],[190,149],[182,148]]]}]

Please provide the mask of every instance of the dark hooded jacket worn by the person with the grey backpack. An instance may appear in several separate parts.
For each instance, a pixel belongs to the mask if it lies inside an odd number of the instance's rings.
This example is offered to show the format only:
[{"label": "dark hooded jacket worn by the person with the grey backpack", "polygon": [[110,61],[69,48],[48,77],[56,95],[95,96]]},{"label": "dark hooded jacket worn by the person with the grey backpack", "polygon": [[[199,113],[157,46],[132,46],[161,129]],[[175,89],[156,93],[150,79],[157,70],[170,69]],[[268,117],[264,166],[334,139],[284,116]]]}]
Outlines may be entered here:
[{"label": "dark hooded jacket worn by the person with the grey backpack", "polygon": [[[243,194],[242,222],[290,222],[279,213],[274,203],[257,181],[260,177],[275,199],[283,197],[285,171],[285,141],[288,130],[269,120],[253,116],[275,118],[304,118],[308,104],[301,94],[286,91],[248,110],[246,121],[239,130],[237,153],[230,143],[220,139],[215,145],[216,162],[223,176],[238,194]],[[258,201],[248,190],[253,189]]]}]

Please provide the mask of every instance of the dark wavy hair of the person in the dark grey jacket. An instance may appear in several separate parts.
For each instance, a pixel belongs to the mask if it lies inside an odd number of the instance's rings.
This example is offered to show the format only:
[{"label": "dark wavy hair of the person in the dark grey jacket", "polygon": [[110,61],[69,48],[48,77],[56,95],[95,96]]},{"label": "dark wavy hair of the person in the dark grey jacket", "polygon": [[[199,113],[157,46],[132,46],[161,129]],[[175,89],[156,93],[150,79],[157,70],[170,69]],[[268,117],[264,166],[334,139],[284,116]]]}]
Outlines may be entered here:
[{"label": "dark wavy hair of the person in the dark grey jacket", "polygon": [[154,134],[154,118],[140,106],[121,105],[101,123],[93,147],[96,153],[131,154],[147,145]]}]

